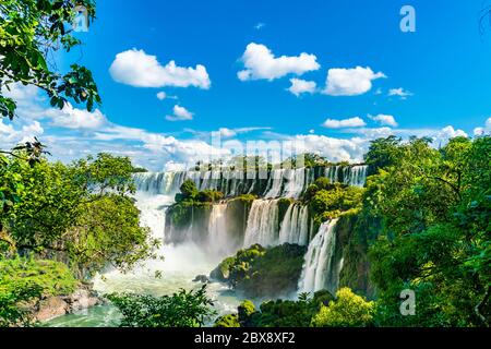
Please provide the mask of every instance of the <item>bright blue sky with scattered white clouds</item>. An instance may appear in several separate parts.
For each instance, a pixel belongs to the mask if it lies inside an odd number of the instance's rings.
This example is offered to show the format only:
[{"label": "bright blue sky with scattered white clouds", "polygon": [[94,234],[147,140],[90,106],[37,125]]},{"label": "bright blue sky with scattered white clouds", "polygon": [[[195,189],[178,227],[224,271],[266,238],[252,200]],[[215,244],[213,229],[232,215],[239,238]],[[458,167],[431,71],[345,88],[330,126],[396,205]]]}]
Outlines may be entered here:
[{"label": "bright blue sky with scattered white clouds", "polygon": [[[415,33],[399,28],[405,4],[416,10]],[[491,127],[491,31],[479,33],[482,7],[481,0],[98,1],[96,22],[77,34],[84,46],[58,57],[61,69],[77,61],[94,72],[99,110],[88,117],[77,106],[64,110],[87,117],[88,127],[47,110],[36,92],[20,110],[33,110],[36,95],[33,122],[59,158],[109,149],[155,169],[195,159],[209,144],[207,132],[220,128],[242,141],[304,135],[309,151],[335,160],[359,159],[376,135],[471,136]],[[170,61],[182,70],[172,73]],[[248,73],[239,79],[241,71]],[[288,91],[291,79],[297,94]],[[13,130],[36,125],[24,120]]]}]

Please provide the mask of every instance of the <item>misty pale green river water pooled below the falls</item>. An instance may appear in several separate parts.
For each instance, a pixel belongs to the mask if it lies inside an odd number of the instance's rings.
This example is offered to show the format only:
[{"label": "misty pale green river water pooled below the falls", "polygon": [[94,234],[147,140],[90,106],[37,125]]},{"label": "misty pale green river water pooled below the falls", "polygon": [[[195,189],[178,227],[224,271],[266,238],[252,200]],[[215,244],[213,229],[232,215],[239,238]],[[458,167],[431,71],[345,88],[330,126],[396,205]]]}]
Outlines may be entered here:
[{"label": "misty pale green river water pooled below the falls", "polygon": [[[134,292],[153,296],[171,294],[181,288],[197,289],[202,284],[193,282],[196,275],[208,275],[217,265],[217,261],[208,258],[195,245],[165,246],[161,251],[164,261],[147,261],[133,272],[122,274],[112,270],[94,279],[94,289],[100,294],[110,292]],[[155,272],[163,273],[161,278]],[[239,300],[225,285],[208,284],[208,297],[215,301],[218,315],[237,311]],[[115,327],[121,314],[110,305],[94,306],[74,314],[62,315],[44,326],[48,327]],[[213,321],[211,320],[211,324]]]}]

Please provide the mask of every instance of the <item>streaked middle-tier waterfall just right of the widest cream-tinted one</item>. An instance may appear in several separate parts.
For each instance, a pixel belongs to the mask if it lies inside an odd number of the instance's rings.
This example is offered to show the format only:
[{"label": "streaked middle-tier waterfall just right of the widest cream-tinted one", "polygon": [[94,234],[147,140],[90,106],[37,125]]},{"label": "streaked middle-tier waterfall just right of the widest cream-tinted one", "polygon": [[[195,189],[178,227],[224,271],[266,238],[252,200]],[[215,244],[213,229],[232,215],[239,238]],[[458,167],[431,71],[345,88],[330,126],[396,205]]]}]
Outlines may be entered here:
[{"label": "streaked middle-tier waterfall just right of the widest cream-tinted one", "polygon": [[309,208],[292,204],[288,207],[279,229],[279,243],[309,243]]}]

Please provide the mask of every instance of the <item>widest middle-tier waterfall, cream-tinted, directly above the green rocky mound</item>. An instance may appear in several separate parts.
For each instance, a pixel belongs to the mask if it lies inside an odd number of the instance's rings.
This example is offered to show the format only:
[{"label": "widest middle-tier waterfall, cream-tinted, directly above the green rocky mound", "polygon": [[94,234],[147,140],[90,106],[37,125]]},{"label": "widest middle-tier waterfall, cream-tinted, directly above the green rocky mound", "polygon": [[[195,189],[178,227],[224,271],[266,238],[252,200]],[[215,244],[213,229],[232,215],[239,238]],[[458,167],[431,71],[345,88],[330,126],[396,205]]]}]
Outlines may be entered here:
[{"label": "widest middle-tier waterfall, cream-tinted, directly above the green rocky mound", "polygon": [[244,234],[244,248],[254,243],[270,246],[278,240],[278,201],[254,200],[248,217]]}]

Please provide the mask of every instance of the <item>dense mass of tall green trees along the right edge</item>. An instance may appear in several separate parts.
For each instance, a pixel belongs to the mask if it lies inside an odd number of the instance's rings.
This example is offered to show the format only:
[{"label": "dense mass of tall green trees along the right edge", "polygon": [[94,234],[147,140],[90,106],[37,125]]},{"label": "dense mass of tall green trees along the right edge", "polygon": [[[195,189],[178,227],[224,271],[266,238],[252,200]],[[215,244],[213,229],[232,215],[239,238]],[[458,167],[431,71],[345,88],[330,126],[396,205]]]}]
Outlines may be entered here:
[{"label": "dense mass of tall green trees along the right edge", "polygon": [[[378,323],[487,326],[490,304],[491,139],[457,137],[441,149],[426,139],[391,144],[369,178],[366,209],[382,220],[370,249]],[[384,158],[379,145],[369,158]],[[416,292],[415,316],[398,312]]]}]

